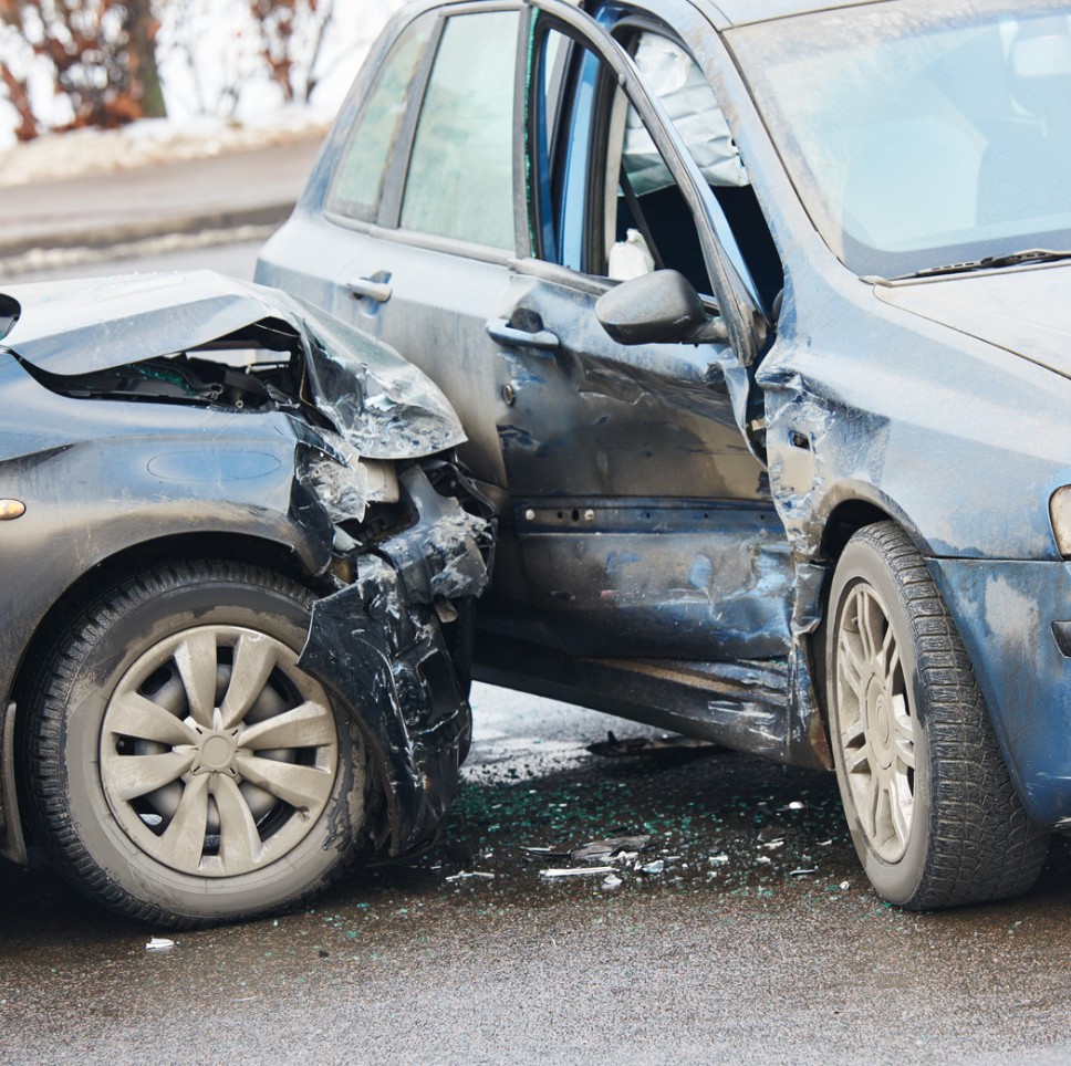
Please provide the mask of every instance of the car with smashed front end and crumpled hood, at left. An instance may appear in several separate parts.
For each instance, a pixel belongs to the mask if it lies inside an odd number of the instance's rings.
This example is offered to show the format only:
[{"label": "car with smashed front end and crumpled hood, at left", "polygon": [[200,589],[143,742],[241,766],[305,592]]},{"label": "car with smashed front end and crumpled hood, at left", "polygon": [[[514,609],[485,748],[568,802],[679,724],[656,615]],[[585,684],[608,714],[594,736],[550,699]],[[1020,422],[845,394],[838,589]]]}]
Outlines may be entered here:
[{"label": "car with smashed front end and crumpled hood, at left", "polygon": [[196,924],[426,842],[491,543],[438,388],[194,272],[8,289],[0,395],[4,854]]}]

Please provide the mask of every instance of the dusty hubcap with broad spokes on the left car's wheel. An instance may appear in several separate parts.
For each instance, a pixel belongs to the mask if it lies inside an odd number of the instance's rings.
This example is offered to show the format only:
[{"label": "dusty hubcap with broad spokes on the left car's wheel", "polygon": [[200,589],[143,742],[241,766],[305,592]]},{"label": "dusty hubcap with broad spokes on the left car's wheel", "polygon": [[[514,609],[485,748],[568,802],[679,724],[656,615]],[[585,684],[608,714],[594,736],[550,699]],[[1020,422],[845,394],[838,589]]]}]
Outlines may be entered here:
[{"label": "dusty hubcap with broad spokes on the left car's wheel", "polygon": [[273,637],[201,626],[123,675],[101,731],[101,784],[123,832],[183,874],[231,877],[311,832],[339,765],[320,684]]}]

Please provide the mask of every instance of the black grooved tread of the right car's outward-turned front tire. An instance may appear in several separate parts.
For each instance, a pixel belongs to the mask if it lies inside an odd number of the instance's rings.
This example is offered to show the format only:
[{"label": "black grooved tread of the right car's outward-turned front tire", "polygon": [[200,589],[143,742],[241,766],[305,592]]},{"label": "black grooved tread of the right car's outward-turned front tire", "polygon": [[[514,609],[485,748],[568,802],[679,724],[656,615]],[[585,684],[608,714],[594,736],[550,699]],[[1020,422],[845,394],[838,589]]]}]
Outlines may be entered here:
[{"label": "black grooved tread of the right car's outward-turned front tire", "polygon": [[1016,793],[955,621],[900,525],[871,525],[853,540],[869,542],[892,573],[927,693],[930,847],[904,906],[933,910],[1020,896],[1041,872],[1049,830],[1031,821]]}]

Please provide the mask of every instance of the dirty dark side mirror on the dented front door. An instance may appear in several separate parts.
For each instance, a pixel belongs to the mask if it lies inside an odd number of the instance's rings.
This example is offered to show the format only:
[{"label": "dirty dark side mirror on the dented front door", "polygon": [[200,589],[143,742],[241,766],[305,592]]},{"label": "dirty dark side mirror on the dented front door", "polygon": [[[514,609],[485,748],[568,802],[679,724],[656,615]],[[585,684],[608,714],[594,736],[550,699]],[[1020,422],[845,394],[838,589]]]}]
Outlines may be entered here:
[{"label": "dirty dark side mirror on the dented front door", "polygon": [[676,270],[656,270],[603,293],[595,317],[617,344],[725,341],[720,318],[707,314],[692,282]]}]

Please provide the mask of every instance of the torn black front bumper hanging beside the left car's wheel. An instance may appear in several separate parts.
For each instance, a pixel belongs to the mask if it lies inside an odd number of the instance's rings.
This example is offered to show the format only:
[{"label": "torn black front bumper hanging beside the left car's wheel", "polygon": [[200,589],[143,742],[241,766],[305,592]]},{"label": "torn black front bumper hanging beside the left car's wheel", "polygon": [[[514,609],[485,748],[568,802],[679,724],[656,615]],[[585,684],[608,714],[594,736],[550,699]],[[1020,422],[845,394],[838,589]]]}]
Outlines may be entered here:
[{"label": "torn black front bumper hanging beside the left car's wheel", "polygon": [[[471,710],[439,614],[482,593],[493,540],[488,519],[440,495],[420,467],[398,483],[414,521],[353,554],[353,584],[313,606],[299,660],[362,730],[387,807],[368,828],[375,844],[389,838],[392,855],[434,832],[458,787]],[[464,488],[459,475],[451,483]]]}]

